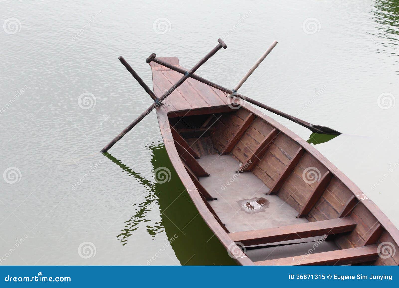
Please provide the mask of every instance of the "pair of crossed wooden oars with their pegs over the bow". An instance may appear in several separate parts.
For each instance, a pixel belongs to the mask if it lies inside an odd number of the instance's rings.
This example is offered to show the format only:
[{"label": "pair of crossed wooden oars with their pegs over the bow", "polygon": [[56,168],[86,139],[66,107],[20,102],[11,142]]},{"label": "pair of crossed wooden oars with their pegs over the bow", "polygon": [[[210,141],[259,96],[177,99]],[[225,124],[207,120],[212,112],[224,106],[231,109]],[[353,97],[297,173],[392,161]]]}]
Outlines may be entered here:
[{"label": "pair of crossed wooden oars with their pegs over the bow", "polygon": [[117,143],[124,135],[126,135],[126,133],[128,133],[134,126],[136,126],[138,122],[143,120],[144,117],[147,116],[147,114],[149,114],[152,110],[154,110],[154,108],[157,108],[158,106],[162,105],[162,102],[166,99],[166,97],[168,97],[174,90],[176,90],[176,88],[178,88],[178,86],[180,86],[189,77],[193,78],[195,80],[198,80],[199,82],[205,83],[209,86],[212,86],[216,89],[219,89],[223,92],[226,92],[229,94],[229,97],[232,97],[232,98],[239,97],[239,98],[243,99],[244,101],[247,101],[247,102],[255,104],[261,108],[269,110],[279,116],[282,116],[290,121],[293,121],[299,125],[302,125],[308,129],[310,129],[310,131],[312,131],[314,133],[323,133],[323,134],[332,134],[332,135],[340,135],[341,134],[340,132],[338,132],[334,129],[331,129],[329,127],[314,125],[309,122],[300,120],[294,116],[291,116],[289,114],[281,112],[275,108],[272,108],[272,107],[267,106],[261,102],[258,102],[256,100],[253,100],[249,97],[245,97],[244,95],[237,93],[237,90],[241,87],[241,85],[245,82],[245,80],[248,79],[248,77],[253,73],[253,71],[255,71],[255,69],[259,66],[259,64],[262,63],[263,59],[265,59],[266,56],[270,53],[270,51],[272,51],[272,49],[277,45],[277,41],[274,41],[272,43],[272,45],[265,51],[265,53],[263,53],[261,58],[258,59],[258,61],[255,63],[255,65],[253,65],[253,67],[247,72],[247,74],[245,74],[245,76],[241,79],[241,81],[237,84],[237,86],[235,86],[235,88],[233,90],[230,90],[228,88],[220,86],[219,84],[213,83],[209,80],[206,80],[206,79],[194,74],[194,72],[199,67],[201,67],[209,58],[211,58],[217,51],[219,51],[219,49],[221,49],[222,47],[224,49],[227,48],[227,45],[223,42],[222,39],[218,39],[217,41],[219,42],[218,45],[215,48],[213,48],[205,57],[203,57],[203,59],[201,59],[201,61],[199,61],[190,71],[186,71],[179,67],[173,66],[169,63],[165,63],[165,62],[161,61],[160,59],[158,59],[156,57],[155,53],[152,53],[150,55],[150,57],[147,58],[147,60],[146,60],[147,63],[150,63],[153,61],[153,62],[158,63],[158,64],[160,64],[164,67],[167,67],[171,70],[179,72],[180,74],[184,74],[184,76],[182,78],[180,78],[178,80],[178,82],[176,82],[176,84],[174,84],[171,88],[169,88],[169,90],[166,91],[159,98],[144,83],[144,81],[140,78],[140,76],[138,76],[138,74],[132,69],[132,67],[130,67],[130,65],[123,59],[123,57],[120,56],[119,57],[120,62],[124,65],[124,67],[126,67],[126,69],[130,72],[130,74],[132,74],[132,76],[137,80],[137,82],[144,88],[144,90],[148,93],[148,95],[150,95],[150,97],[154,100],[154,103],[150,107],[148,107],[147,110],[145,110],[140,116],[138,116],[138,118],[136,120],[134,120],[128,127],[126,127],[122,132],[120,132],[119,135],[117,137],[115,137],[110,143],[108,143],[100,152],[101,153],[107,152],[113,145],[115,145],[115,143]]}]

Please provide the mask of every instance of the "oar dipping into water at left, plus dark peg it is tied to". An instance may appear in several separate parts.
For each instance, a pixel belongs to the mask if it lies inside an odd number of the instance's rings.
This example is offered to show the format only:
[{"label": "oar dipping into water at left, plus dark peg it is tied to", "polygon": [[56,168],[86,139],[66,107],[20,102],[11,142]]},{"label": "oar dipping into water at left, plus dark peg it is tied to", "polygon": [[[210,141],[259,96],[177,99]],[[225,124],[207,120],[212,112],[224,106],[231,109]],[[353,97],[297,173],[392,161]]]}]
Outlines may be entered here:
[{"label": "oar dipping into water at left, plus dark peg it is tied to", "polygon": [[[162,96],[160,96],[159,98],[156,98],[155,102],[148,107],[140,116],[138,116],[138,118],[136,120],[134,120],[128,127],[126,127],[122,132],[119,133],[119,135],[117,137],[115,137],[110,143],[108,143],[100,152],[101,153],[105,153],[107,152],[113,145],[115,145],[115,143],[117,143],[120,138],[122,138],[124,135],[126,135],[126,133],[128,133],[134,126],[137,125],[138,122],[140,122],[141,120],[144,119],[144,117],[146,117],[152,110],[154,110],[154,108],[159,107],[162,104],[162,101],[164,101],[166,99],[166,97],[168,97],[174,90],[176,90],[176,88],[178,88],[180,86],[180,84],[182,84],[186,79],[188,79],[199,67],[201,67],[209,58],[211,58],[217,51],[219,51],[219,49],[221,49],[223,47],[223,49],[227,48],[227,45],[223,42],[222,39],[218,39],[217,40],[219,43],[216,45],[215,48],[213,48],[207,55],[205,55],[205,57],[203,57],[201,59],[201,61],[199,61],[190,71],[186,72],[184,74],[184,76],[182,78],[180,78],[174,85],[172,85],[172,87],[169,88],[169,90],[167,92],[165,92]],[[123,58],[122,58],[123,59]],[[119,59],[121,60],[121,59]],[[122,62],[122,60],[121,60]],[[122,62],[123,63],[123,62]],[[127,63],[126,63],[127,64]],[[125,65],[126,67],[126,65]],[[130,67],[130,66],[128,66]],[[126,68],[128,68],[126,67]],[[130,67],[130,69],[133,71],[132,67]],[[129,69],[128,69],[129,70]],[[130,72],[130,70],[129,70]],[[133,71],[134,72],[134,71]],[[132,73],[132,75],[134,76],[134,74],[136,74],[136,72]],[[136,74],[137,75],[137,74]],[[138,77],[138,75],[137,75]],[[134,78],[136,78],[136,76],[134,76]],[[138,80],[139,79],[139,80]],[[139,81],[140,83],[140,77],[136,78],[136,80]],[[142,80],[140,85],[142,85]],[[145,85],[145,84],[144,84]],[[142,85],[143,86],[143,85]],[[146,85],[145,85],[146,86]],[[144,87],[144,86],[143,86]],[[150,92],[144,88],[146,90],[146,92],[148,94],[150,94]],[[151,90],[150,90],[151,91]],[[152,93],[152,91],[151,91]],[[153,93],[152,93],[153,94]],[[150,94],[150,96],[153,98],[153,96]]]}]

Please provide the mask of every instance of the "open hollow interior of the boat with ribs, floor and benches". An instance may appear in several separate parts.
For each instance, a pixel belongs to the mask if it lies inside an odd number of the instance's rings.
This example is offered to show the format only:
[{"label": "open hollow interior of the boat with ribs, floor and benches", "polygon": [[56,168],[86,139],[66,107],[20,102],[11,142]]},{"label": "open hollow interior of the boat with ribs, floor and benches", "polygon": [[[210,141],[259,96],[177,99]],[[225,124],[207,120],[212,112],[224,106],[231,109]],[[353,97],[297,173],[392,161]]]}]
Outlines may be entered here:
[{"label": "open hollow interior of the boat with ribs, floor and benches", "polygon": [[[257,265],[397,265],[396,245],[348,186],[245,107],[170,113],[176,150],[210,212]],[[397,256],[397,255],[396,255]]]}]

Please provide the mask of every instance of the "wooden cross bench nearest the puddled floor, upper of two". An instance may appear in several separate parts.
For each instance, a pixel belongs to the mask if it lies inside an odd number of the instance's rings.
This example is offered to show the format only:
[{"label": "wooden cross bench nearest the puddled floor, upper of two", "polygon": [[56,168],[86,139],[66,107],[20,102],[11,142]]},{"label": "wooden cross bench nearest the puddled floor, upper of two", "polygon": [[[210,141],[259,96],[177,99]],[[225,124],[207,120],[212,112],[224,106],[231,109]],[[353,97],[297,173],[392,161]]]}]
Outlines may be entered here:
[{"label": "wooden cross bench nearest the puddled floor, upper of two", "polygon": [[248,246],[350,232],[353,231],[355,226],[356,221],[348,217],[261,230],[235,232],[230,233],[229,236],[233,241]]}]

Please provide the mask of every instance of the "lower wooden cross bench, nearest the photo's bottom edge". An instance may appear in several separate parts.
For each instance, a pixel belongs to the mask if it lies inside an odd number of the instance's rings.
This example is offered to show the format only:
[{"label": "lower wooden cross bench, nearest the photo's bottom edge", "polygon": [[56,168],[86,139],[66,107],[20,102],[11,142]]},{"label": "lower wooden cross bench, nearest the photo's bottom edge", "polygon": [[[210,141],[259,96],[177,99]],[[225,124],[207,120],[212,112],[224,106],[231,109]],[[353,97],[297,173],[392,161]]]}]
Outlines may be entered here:
[{"label": "lower wooden cross bench, nearest the photo's bottom edge", "polygon": [[294,257],[258,261],[256,265],[347,265],[378,258],[377,246],[368,245],[350,249],[313,253]]}]

